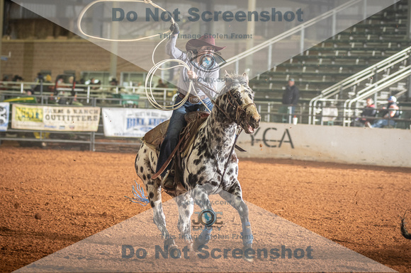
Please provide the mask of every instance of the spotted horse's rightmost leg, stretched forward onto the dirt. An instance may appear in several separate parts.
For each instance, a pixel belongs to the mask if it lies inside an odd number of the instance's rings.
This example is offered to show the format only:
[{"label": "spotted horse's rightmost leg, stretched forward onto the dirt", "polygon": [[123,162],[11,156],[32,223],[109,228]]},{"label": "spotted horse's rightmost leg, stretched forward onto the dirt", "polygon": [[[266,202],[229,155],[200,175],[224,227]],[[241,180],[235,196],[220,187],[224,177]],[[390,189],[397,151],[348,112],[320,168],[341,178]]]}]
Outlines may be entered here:
[{"label": "spotted horse's rightmost leg, stretched forward onto the dirt", "polygon": [[248,207],[242,199],[242,191],[240,182],[238,180],[227,191],[220,192],[220,196],[223,197],[230,205],[238,211],[242,223],[242,243],[244,249],[252,248],[252,231],[251,225],[248,219]]}]

